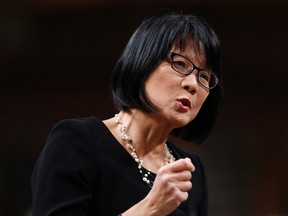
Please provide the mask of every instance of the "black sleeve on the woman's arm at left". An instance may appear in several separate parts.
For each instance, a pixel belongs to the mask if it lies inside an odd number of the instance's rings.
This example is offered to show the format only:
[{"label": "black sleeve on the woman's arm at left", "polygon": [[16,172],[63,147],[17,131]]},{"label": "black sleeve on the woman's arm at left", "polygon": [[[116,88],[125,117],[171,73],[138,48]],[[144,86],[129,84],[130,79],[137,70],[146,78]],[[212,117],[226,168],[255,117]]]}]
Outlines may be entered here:
[{"label": "black sleeve on the woman's arm at left", "polygon": [[88,215],[97,182],[93,140],[81,120],[51,130],[31,177],[33,216]]}]

